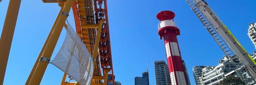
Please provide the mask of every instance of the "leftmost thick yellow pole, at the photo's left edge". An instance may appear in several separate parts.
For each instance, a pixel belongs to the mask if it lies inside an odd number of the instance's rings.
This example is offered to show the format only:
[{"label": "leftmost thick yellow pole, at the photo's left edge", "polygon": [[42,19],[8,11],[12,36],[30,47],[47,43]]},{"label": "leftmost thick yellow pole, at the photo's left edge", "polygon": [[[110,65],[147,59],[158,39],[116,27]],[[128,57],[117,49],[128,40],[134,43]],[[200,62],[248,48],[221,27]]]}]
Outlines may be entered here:
[{"label": "leftmost thick yellow pole, at the photo's left edge", "polygon": [[4,20],[4,26],[0,38],[0,85],[3,85],[4,83],[4,75],[18,18],[20,2],[21,0],[10,0]]}]

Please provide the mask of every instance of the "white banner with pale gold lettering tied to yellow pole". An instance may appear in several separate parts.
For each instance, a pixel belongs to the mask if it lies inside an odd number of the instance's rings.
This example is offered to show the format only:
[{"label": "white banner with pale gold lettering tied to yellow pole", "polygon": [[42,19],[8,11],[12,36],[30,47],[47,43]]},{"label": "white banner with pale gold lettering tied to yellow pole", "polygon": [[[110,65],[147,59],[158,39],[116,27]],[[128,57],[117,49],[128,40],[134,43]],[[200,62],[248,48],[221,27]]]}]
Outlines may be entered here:
[{"label": "white banner with pale gold lettering tied to yellow pole", "polygon": [[64,43],[51,62],[81,85],[90,85],[93,77],[93,59],[79,36],[67,22]]}]

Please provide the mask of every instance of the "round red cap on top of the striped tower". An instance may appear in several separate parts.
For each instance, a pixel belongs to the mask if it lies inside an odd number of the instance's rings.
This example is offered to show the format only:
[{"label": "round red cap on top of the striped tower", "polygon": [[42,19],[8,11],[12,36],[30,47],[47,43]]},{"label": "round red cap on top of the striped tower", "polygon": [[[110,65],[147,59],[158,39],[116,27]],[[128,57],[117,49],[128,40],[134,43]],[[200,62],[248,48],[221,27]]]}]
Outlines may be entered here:
[{"label": "round red cap on top of the striped tower", "polygon": [[161,11],[157,13],[157,19],[159,19],[160,21],[171,20],[174,17],[175,17],[175,13],[172,11]]}]

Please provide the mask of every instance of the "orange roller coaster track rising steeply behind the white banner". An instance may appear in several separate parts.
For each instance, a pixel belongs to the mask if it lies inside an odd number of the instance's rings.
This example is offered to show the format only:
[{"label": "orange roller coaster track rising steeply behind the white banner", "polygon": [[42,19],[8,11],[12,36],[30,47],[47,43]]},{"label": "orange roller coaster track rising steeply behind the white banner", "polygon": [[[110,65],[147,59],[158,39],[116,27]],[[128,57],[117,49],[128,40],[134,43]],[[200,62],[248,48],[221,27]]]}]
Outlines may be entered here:
[{"label": "orange roller coaster track rising steeply behind the white banner", "polygon": [[[72,9],[75,18],[76,32],[91,54],[93,54],[96,29],[86,28],[86,24],[97,24],[100,19],[105,18],[101,31],[101,38],[99,41],[99,55],[97,57],[98,61],[94,68],[95,77],[93,77],[93,83],[102,82],[97,78],[102,76],[102,72],[103,76],[112,76],[112,80],[108,80],[108,82],[114,82],[106,0],[78,0],[72,5]],[[105,70],[109,70],[111,72],[109,72],[108,75],[105,75]]]}]

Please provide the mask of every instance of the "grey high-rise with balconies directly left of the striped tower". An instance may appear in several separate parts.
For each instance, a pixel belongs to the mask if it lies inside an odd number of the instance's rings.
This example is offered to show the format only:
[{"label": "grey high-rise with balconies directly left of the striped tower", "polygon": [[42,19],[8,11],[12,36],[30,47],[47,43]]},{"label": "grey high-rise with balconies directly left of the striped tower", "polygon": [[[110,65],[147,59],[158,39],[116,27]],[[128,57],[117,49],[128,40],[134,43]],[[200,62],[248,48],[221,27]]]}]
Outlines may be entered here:
[{"label": "grey high-rise with balconies directly left of the striped tower", "polygon": [[157,85],[171,85],[169,69],[165,61],[155,61],[155,78]]}]

